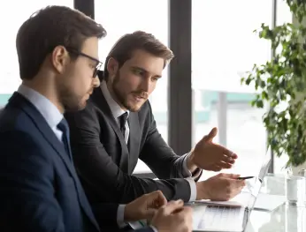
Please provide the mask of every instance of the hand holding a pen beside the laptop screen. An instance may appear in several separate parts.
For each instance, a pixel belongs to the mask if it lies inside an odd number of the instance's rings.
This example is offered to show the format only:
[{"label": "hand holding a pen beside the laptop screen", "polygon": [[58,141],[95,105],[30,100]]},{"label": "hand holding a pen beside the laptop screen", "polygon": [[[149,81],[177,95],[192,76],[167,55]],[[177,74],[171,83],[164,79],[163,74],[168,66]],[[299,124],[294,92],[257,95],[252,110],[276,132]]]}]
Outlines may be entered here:
[{"label": "hand holding a pen beside the laptop screen", "polygon": [[221,173],[196,183],[196,199],[229,200],[235,197],[246,185],[244,180],[237,179],[239,176]]}]

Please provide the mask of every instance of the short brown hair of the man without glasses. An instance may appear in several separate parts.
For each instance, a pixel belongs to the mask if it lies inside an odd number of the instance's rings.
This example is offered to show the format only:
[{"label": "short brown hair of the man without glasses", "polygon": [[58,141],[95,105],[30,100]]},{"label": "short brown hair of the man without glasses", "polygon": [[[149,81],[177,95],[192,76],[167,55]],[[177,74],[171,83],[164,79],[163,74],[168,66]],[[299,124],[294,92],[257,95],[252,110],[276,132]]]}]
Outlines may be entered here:
[{"label": "short brown hair of the man without glasses", "polygon": [[161,41],[158,41],[153,34],[136,31],[132,34],[123,35],[112,47],[104,64],[103,79],[108,79],[107,63],[112,57],[119,62],[119,68],[133,56],[137,49],[145,50],[150,54],[164,59],[164,67],[170,63],[173,56],[172,50],[168,49]]}]

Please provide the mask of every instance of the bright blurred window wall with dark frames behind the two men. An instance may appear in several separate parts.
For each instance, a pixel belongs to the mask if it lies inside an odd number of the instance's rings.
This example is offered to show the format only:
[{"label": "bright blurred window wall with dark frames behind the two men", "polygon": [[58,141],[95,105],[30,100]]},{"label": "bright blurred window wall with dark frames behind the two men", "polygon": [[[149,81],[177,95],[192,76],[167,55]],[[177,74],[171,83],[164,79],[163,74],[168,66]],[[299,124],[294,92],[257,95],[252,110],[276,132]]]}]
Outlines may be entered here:
[{"label": "bright blurred window wall with dark frames behind the two men", "polygon": [[[115,41],[126,33],[143,30],[168,45],[176,56],[149,100],[157,128],[178,154],[218,127],[220,143],[239,155],[235,172],[248,174],[265,154],[266,109],[252,108],[254,89],[241,86],[241,77],[253,64],[272,57],[270,44],[253,32],[262,23],[291,22],[282,0],[11,0],[5,1],[0,26],[5,28],[0,56],[0,107],[19,84],[15,37],[19,26],[34,11],[60,4],[84,11],[107,30],[99,44],[104,60]],[[8,24],[8,21],[10,24]],[[270,155],[270,154],[269,154]],[[286,162],[273,157],[271,172]],[[253,168],[253,169],[252,169]],[[151,176],[139,161],[135,173]]]}]

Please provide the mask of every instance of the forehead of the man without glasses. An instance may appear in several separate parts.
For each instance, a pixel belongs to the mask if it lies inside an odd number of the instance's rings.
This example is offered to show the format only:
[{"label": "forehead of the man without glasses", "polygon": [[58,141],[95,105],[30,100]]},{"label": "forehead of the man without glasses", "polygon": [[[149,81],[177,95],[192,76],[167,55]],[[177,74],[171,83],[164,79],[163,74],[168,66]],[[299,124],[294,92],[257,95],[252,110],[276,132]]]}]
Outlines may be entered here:
[{"label": "forehead of the man without glasses", "polygon": [[164,70],[164,59],[137,49],[133,52],[132,57],[126,61],[126,65],[139,67],[155,75],[161,75]]}]

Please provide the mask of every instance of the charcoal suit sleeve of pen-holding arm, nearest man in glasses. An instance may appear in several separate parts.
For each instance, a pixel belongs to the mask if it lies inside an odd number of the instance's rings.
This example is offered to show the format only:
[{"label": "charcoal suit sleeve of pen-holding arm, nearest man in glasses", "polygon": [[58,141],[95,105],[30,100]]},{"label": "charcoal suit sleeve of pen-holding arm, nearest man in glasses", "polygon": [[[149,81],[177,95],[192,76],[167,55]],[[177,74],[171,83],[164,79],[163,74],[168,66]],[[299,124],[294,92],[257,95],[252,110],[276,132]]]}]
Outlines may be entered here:
[{"label": "charcoal suit sleeve of pen-holding arm, nearest man in glasses", "polygon": [[[91,201],[126,204],[151,191],[163,191],[168,199],[188,201],[189,183],[185,179],[152,180],[124,173],[100,141],[96,109],[88,102],[86,109],[65,116],[71,130],[74,164]],[[138,154],[137,154],[138,155]],[[184,190],[184,191],[183,191]]]}]

